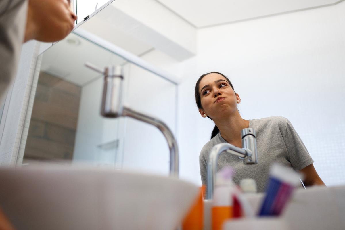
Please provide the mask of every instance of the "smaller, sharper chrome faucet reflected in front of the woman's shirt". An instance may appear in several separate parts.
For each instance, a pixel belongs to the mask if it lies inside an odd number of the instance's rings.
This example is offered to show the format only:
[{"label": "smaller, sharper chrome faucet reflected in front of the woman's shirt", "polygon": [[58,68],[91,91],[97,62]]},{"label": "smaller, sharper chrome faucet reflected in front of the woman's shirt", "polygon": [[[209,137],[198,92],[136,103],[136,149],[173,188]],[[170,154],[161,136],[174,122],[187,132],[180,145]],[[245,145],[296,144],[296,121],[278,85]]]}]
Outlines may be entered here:
[{"label": "smaller, sharper chrome faucet reflected in front of the woman's shirt", "polygon": [[221,152],[227,151],[228,153],[238,156],[240,159],[243,159],[244,164],[256,164],[258,162],[255,130],[252,128],[242,129],[241,136],[242,149],[229,143],[216,144],[211,149],[207,163],[207,199],[213,198],[218,157]]}]

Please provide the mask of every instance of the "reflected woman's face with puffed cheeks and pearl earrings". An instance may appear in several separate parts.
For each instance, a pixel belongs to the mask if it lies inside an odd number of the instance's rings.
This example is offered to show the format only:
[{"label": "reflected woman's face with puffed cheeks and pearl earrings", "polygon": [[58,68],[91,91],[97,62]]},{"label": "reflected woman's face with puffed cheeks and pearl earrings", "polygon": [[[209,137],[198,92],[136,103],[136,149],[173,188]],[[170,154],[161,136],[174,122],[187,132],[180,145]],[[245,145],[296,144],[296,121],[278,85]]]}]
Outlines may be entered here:
[{"label": "reflected woman's face with puffed cheeks and pearl earrings", "polygon": [[201,116],[217,119],[237,111],[238,94],[231,88],[229,82],[218,73],[207,74],[199,83]]}]

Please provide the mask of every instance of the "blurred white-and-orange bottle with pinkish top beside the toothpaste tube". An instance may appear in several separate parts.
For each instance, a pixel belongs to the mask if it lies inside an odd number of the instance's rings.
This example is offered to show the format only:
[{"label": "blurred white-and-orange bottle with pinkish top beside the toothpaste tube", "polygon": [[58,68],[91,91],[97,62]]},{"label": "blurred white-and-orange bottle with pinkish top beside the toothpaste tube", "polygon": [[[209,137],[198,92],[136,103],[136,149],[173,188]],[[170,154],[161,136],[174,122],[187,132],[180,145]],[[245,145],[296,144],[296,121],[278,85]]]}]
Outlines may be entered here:
[{"label": "blurred white-and-orange bottle with pinkish top beside the toothpaste tube", "polygon": [[211,210],[212,230],[221,230],[223,223],[233,218],[235,186],[232,175],[233,169],[231,167],[224,168],[217,173]]}]

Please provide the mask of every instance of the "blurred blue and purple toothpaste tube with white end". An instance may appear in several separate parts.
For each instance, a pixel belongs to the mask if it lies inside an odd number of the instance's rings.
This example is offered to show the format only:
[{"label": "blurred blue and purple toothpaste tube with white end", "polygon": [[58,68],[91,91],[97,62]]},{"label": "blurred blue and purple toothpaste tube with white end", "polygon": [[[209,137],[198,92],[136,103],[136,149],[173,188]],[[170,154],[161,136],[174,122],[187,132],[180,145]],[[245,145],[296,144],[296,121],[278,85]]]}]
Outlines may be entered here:
[{"label": "blurred blue and purple toothpaste tube with white end", "polygon": [[300,175],[296,171],[274,164],[259,216],[279,216],[299,183]]}]

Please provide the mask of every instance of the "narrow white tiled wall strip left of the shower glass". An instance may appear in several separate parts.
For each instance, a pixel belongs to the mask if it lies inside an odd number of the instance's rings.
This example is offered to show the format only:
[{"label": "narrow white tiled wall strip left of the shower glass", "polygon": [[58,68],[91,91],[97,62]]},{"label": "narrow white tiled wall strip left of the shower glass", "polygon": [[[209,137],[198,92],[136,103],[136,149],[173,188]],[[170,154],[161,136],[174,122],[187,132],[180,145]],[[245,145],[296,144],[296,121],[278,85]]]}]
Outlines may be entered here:
[{"label": "narrow white tiled wall strip left of the shower glass", "polygon": [[[5,123],[1,130],[0,167],[15,166],[16,162],[20,165],[22,162],[33,105],[32,99],[36,91],[36,87],[31,88],[31,86],[32,81],[37,82],[38,79],[35,67],[39,48],[40,42],[34,40],[25,43],[22,48],[16,80],[6,99],[10,101],[6,111],[6,120],[2,121]],[[21,138],[22,134],[24,134],[23,138]]]}]

